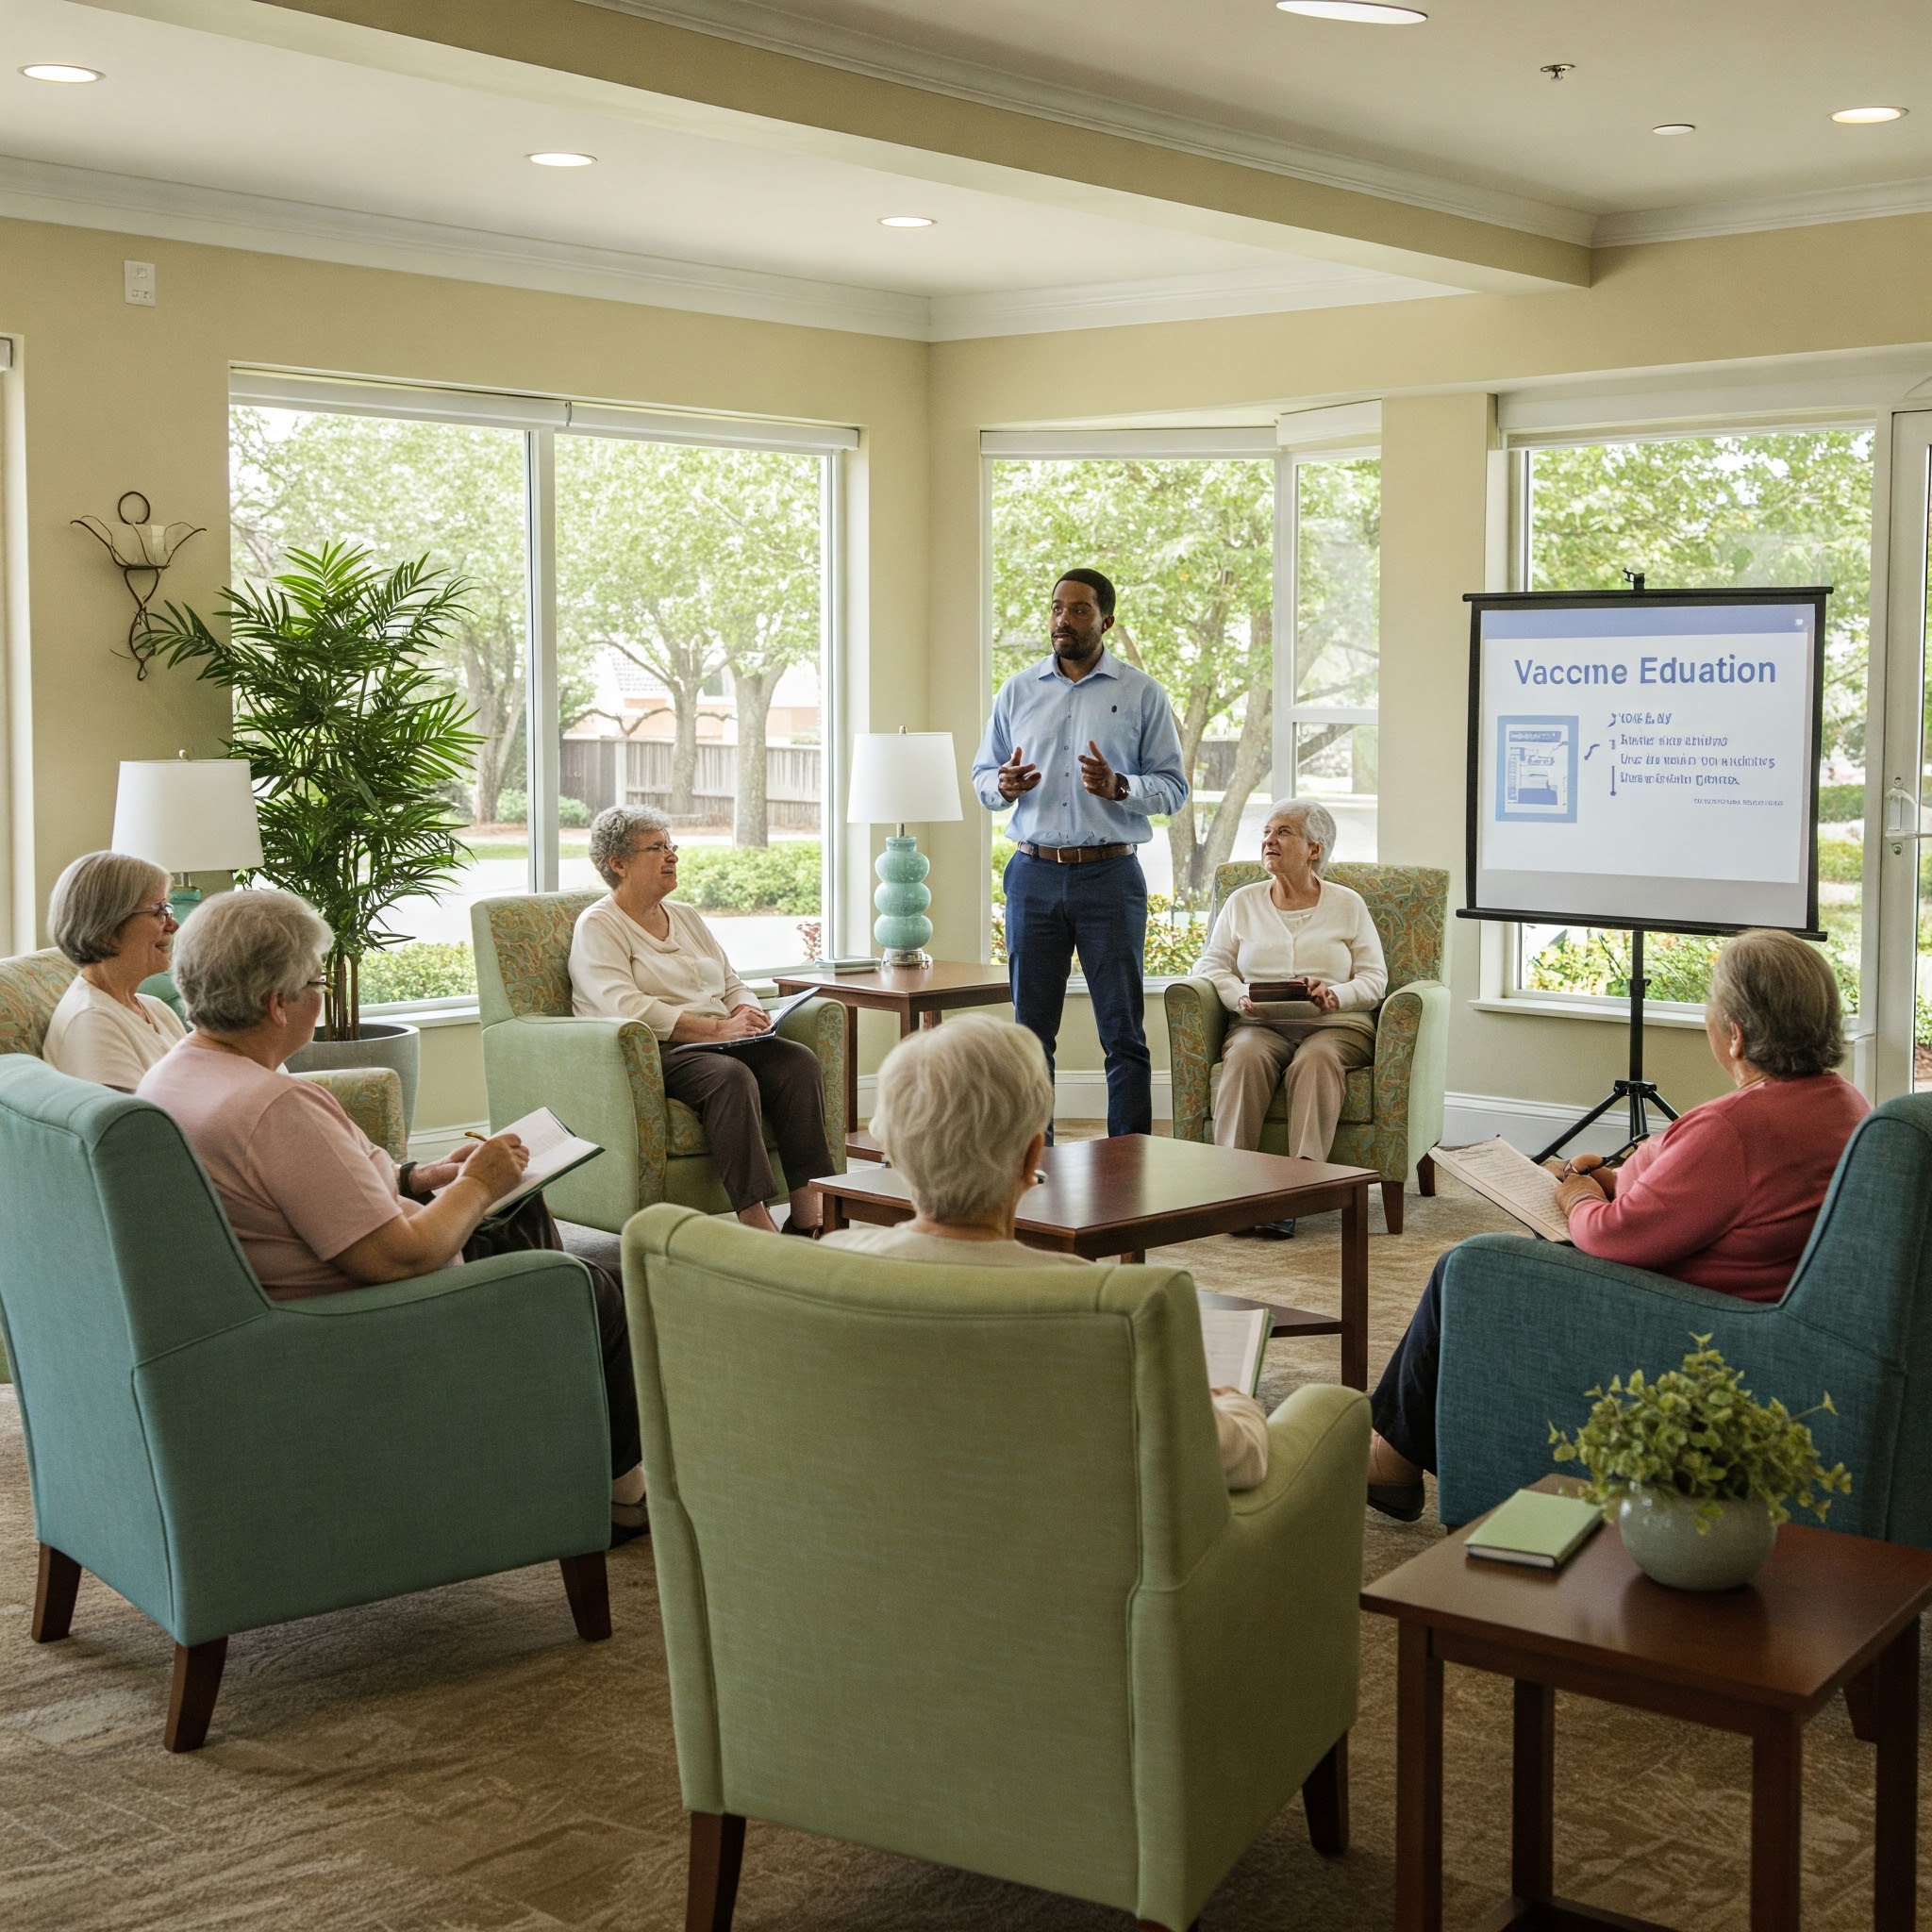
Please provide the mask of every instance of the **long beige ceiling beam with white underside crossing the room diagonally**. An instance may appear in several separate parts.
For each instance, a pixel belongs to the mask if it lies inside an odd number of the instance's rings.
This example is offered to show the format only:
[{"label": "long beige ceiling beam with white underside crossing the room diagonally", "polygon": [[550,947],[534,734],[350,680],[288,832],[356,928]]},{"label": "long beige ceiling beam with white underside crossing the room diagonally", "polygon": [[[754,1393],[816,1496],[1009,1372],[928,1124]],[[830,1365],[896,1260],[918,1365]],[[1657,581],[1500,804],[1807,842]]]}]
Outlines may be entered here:
[{"label": "long beige ceiling beam with white underside crossing the room diagonally", "polygon": [[1590,249],[583,0],[83,0],[518,99],[1215,236],[1451,288],[1590,282]]}]

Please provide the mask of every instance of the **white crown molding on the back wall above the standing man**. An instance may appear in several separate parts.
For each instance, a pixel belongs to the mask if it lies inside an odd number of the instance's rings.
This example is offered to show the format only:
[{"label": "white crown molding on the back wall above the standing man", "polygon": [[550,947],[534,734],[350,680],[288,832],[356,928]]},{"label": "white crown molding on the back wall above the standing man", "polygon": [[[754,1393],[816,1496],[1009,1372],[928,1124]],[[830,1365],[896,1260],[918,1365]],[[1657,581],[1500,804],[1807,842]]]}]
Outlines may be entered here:
[{"label": "white crown molding on the back wall above the standing man", "polygon": [[1028,336],[1057,328],[1124,328],[1134,323],[1194,323],[1221,315],[1283,315],[1291,309],[1345,309],[1366,301],[1420,301],[1463,296],[1463,288],[1406,276],[1333,269],[1233,269],[1150,282],[1020,288],[991,296],[935,296],[929,340]]}]

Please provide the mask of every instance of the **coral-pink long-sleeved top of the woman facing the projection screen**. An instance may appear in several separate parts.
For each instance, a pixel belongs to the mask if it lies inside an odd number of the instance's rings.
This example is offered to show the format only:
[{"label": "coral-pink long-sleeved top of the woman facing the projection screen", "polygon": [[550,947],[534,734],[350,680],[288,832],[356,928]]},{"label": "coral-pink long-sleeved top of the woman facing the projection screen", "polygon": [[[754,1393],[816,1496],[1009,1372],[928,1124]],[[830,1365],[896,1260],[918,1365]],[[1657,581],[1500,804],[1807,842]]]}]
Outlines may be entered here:
[{"label": "coral-pink long-sleeved top of the woman facing the projection screen", "polygon": [[1776,1302],[1866,1113],[1837,1074],[1704,1101],[1623,1163],[1611,1200],[1571,1209],[1571,1240],[1605,1262]]}]

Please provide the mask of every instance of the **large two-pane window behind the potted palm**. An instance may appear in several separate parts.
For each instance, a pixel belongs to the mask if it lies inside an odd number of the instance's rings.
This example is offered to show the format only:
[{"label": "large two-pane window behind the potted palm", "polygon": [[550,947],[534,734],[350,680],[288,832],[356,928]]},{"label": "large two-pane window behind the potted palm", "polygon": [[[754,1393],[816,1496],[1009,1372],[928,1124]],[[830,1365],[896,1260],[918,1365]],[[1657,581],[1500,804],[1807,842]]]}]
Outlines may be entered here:
[{"label": "large two-pane window behind the potted palm", "polygon": [[468,864],[396,908],[365,1003],[473,997],[469,904],[597,887],[587,825],[611,804],[670,817],[678,896],[740,972],[817,952],[833,458],[779,425],[777,446],[715,446],[578,433],[564,404],[531,406],[556,429],[466,423],[454,396],[439,419],[419,392],[408,415],[276,408],[265,383],[232,412],[236,578],[338,541],[464,582],[442,674],[479,736],[448,798]]}]

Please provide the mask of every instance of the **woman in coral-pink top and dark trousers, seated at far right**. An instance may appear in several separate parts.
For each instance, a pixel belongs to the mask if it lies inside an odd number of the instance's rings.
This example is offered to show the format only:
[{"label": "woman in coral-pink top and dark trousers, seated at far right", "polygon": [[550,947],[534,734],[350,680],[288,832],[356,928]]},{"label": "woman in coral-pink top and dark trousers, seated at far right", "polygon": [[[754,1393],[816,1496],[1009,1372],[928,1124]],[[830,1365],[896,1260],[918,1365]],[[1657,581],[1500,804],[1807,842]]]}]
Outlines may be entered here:
[{"label": "woman in coral-pink top and dark trousers, seated at far right", "polygon": [[[1793,933],[1741,933],[1718,956],[1704,1032],[1731,1092],[1692,1107],[1623,1167],[1596,1153],[1551,1161],[1557,1202],[1584,1254],[1776,1302],[1868,1113],[1832,1072],[1845,1036],[1830,964]],[[1372,1403],[1368,1499],[1401,1522],[1422,1515],[1422,1472],[1435,1468],[1441,1275],[1437,1262]]]}]

